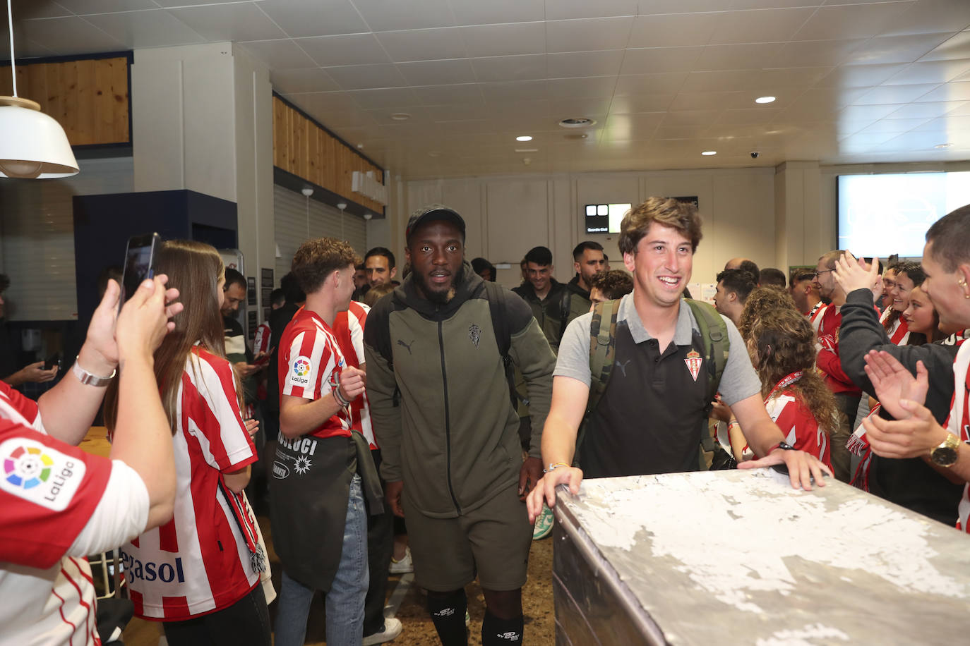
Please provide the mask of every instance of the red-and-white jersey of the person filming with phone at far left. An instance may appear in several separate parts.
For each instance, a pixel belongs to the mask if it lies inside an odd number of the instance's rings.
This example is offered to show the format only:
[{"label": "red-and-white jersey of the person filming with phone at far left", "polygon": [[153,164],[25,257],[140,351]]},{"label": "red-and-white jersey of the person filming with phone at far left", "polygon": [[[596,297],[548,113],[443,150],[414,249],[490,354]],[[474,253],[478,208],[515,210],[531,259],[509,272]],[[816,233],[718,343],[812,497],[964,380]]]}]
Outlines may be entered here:
[{"label": "red-and-white jersey of the person filming with phone at far left", "polygon": [[0,384],[0,643],[100,644],[91,569],[68,555],[105,529],[86,526],[113,465],[43,431],[37,403]]}]

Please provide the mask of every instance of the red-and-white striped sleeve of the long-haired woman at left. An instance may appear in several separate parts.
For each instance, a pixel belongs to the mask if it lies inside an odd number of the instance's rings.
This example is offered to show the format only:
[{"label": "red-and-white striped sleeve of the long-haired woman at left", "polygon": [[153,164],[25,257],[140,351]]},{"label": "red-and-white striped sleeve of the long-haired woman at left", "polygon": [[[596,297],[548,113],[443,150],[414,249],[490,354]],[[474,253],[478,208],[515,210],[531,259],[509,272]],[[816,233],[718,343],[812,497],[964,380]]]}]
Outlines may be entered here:
[{"label": "red-and-white striped sleeve of the long-haired woman at left", "polygon": [[[182,373],[184,392],[198,392],[183,410],[184,428],[195,436],[206,462],[222,472],[256,461],[256,450],[242,423],[236,380],[229,361],[208,353],[192,354],[194,369]],[[185,384],[188,380],[190,384]],[[194,404],[194,405],[193,405]]]}]

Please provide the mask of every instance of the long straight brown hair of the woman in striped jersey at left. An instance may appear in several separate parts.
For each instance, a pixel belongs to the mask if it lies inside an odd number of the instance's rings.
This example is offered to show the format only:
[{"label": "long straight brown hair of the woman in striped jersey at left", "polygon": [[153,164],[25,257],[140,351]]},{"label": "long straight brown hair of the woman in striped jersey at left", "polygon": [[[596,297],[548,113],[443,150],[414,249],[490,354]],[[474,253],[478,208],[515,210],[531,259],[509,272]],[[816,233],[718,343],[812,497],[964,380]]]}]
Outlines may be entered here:
[{"label": "long straight brown hair of the woman in striped jersey at left", "polygon": [[[178,386],[185,362],[198,343],[211,354],[225,357],[225,331],[219,312],[218,284],[225,265],[211,245],[195,240],[167,240],[155,257],[155,271],[169,277],[168,287],[178,289],[184,308],[172,320],[169,332],[155,351],[155,380],[161,391],[162,406],[173,433],[178,419]],[[242,389],[237,384],[237,392]],[[242,401],[240,402],[242,408]],[[117,420],[117,380],[105,393],[105,423],[113,429]]]}]

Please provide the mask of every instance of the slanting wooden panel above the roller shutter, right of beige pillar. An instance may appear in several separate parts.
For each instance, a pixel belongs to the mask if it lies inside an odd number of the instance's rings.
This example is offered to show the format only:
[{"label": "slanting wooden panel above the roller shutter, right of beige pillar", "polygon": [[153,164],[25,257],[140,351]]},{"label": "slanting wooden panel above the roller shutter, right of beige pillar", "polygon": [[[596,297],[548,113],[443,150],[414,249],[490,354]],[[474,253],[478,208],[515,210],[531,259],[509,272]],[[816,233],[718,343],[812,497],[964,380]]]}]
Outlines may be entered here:
[{"label": "slanting wooden panel above the roller shutter, right of beige pillar", "polygon": [[273,98],[273,163],[342,198],[383,212],[383,204],[351,191],[354,170],[373,171],[380,183],[384,183],[383,171],[279,97]]}]

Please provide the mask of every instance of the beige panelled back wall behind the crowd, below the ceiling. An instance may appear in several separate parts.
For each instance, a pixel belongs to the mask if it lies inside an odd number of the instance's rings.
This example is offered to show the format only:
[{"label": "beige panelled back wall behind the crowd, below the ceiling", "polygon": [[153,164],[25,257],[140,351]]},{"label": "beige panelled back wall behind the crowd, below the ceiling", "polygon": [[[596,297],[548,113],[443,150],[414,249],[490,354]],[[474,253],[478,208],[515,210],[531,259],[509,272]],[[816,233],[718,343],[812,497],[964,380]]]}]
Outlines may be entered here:
[{"label": "beige panelled back wall behind the crowd, below the ceiling", "polygon": [[[694,281],[709,282],[725,261],[743,255],[761,266],[776,261],[774,169],[702,169],[590,172],[570,175],[468,177],[407,183],[408,212],[439,201],[455,208],[468,227],[467,256],[493,263],[506,286],[519,283],[518,262],[536,245],[553,252],[555,275],[572,276],[572,248],[597,240],[615,268],[622,257],[615,234],[586,234],[581,209],[587,203],[638,203],[650,196],[697,196],[704,239],[697,249]],[[404,221],[390,222],[404,229]],[[395,249],[397,252],[398,249]],[[403,248],[402,248],[403,251]]]}]

